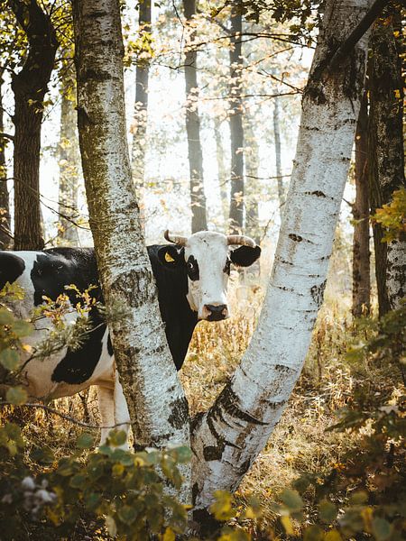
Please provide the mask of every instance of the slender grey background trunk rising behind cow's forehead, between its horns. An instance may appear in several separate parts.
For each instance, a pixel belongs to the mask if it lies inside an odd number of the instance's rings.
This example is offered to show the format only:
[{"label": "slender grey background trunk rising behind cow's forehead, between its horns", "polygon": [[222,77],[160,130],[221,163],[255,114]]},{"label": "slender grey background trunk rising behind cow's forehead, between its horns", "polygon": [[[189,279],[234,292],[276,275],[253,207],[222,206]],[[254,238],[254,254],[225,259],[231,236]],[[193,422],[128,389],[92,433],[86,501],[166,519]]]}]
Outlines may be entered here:
[{"label": "slender grey background trunk rising behind cow's forehead, between its horns", "polygon": [[192,211],[191,231],[197,233],[208,229],[206,197],[204,191],[203,153],[200,142],[200,118],[198,115],[198,53],[194,50],[196,37],[194,16],[196,0],[183,0],[189,28],[189,47],[185,55],[186,86],[186,132],[188,133],[190,205]]}]

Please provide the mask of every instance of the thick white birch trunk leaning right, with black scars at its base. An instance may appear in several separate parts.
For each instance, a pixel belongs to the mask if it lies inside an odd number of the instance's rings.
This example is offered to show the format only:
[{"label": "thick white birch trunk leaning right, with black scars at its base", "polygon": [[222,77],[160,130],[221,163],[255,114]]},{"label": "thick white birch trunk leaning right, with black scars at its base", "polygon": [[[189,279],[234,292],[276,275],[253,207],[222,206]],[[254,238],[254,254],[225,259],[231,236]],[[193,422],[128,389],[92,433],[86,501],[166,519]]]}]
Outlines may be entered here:
[{"label": "thick white birch trunk leaning right, with black scars at its base", "polygon": [[367,0],[328,0],[303,96],[291,186],[268,292],[241,365],[192,435],[196,516],[215,490],[235,490],[272,434],[297,381],[323,301],[328,260],[364,87],[367,39],[328,70],[330,48]]}]

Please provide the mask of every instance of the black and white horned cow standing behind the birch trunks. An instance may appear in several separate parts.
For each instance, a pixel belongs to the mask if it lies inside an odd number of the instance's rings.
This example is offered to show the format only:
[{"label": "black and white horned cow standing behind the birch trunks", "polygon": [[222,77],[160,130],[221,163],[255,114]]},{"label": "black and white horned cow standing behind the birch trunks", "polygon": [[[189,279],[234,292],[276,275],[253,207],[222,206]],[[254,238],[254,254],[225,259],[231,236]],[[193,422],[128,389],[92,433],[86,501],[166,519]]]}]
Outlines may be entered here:
[{"label": "black and white horned cow standing behind the birch trunks", "polygon": [[[176,368],[180,370],[193,329],[199,319],[218,321],[229,316],[226,288],[230,265],[246,267],[254,263],[261,249],[252,239],[241,235],[200,232],[189,238],[165,238],[172,244],[152,245],[148,254],[157,283],[161,317]],[[230,250],[230,246],[239,245]],[[92,248],[51,248],[42,252],[0,252],[0,289],[6,282],[25,289],[23,301],[13,303],[16,316],[29,317],[43,296],[55,300],[62,293],[76,304],[76,293],[65,289],[75,284],[79,290],[98,286],[95,252]],[[90,292],[103,301],[99,287]],[[78,314],[66,316],[73,323]],[[97,308],[88,317],[94,329],[81,347],[65,348],[44,360],[28,362],[23,384],[34,399],[58,399],[71,396],[90,385],[98,387],[98,402],[103,426],[128,422],[128,410],[115,371],[113,348],[108,330]],[[51,330],[51,321],[40,319],[31,344],[38,344]],[[101,441],[108,436],[102,430]]]}]

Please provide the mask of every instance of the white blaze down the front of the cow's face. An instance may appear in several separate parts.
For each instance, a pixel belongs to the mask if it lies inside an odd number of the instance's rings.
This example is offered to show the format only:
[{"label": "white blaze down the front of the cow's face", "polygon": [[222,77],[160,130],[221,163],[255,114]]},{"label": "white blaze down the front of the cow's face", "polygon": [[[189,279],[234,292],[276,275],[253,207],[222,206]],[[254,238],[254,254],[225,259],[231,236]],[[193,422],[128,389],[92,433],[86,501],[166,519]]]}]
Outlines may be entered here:
[{"label": "white blaze down the front of the cow's face", "polygon": [[[228,257],[227,237],[224,234],[202,231],[189,236],[185,245],[185,261],[192,255],[198,261],[198,280],[188,277],[189,306],[206,319],[207,305],[227,305],[228,275],[224,271]],[[226,316],[229,316],[226,310]]]}]

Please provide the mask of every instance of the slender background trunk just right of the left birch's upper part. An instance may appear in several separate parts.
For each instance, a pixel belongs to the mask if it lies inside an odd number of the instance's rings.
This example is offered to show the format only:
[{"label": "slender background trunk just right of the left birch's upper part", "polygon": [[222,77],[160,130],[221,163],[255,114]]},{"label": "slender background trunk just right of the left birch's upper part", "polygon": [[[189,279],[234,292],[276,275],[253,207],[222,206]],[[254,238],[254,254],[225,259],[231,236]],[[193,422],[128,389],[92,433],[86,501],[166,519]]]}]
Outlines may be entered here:
[{"label": "slender background trunk just right of the left birch's upper part", "polygon": [[[152,0],[138,4],[139,37],[149,39],[152,31]],[[148,125],[148,83],[150,77],[150,56],[144,52],[137,60],[135,68],[135,103],[133,144],[131,147],[131,166],[135,190],[140,206],[143,207],[143,185],[145,176],[145,153],[147,149]]]}]

